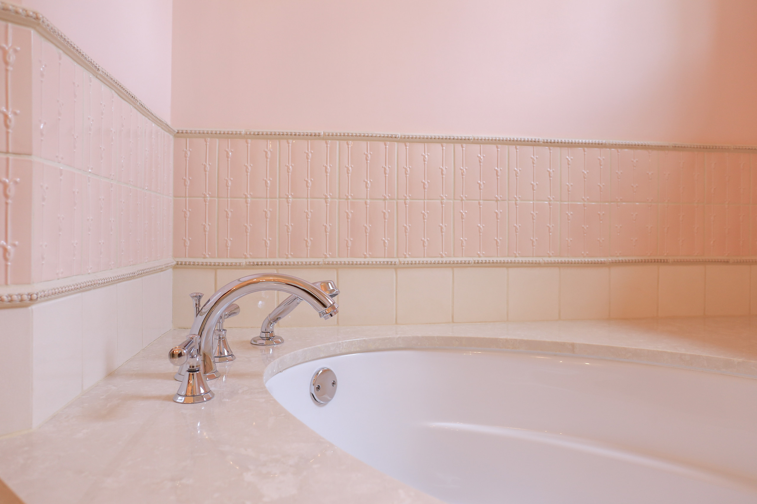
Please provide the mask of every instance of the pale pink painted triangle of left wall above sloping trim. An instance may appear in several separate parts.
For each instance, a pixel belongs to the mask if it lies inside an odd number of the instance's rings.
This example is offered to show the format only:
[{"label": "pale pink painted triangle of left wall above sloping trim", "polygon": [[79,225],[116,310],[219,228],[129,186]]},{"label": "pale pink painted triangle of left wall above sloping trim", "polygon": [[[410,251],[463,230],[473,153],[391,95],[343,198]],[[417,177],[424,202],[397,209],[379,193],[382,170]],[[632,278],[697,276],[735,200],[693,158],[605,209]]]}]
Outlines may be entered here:
[{"label": "pale pink painted triangle of left wall above sloping trim", "polygon": [[162,119],[171,119],[171,0],[17,0],[58,26]]}]

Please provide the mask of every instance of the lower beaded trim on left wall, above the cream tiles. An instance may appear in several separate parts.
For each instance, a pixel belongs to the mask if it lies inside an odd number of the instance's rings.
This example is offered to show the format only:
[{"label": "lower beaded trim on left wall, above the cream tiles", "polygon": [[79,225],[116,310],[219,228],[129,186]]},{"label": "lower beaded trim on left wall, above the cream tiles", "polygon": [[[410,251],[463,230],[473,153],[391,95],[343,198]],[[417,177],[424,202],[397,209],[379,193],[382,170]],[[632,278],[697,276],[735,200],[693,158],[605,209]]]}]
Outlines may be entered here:
[{"label": "lower beaded trim on left wall, above the cream tiles", "polygon": [[[0,309],[28,306],[39,301],[54,299],[55,297],[67,296],[78,292],[90,291],[94,288],[104,287],[125,280],[132,280],[140,276],[151,275],[173,268],[173,259],[154,261],[153,263],[139,266],[127,266],[119,269],[111,269],[107,272],[78,275],[76,277],[51,280],[33,285],[8,285],[0,287]],[[72,282],[72,280],[76,280]],[[24,289],[26,288],[26,289]]]}]

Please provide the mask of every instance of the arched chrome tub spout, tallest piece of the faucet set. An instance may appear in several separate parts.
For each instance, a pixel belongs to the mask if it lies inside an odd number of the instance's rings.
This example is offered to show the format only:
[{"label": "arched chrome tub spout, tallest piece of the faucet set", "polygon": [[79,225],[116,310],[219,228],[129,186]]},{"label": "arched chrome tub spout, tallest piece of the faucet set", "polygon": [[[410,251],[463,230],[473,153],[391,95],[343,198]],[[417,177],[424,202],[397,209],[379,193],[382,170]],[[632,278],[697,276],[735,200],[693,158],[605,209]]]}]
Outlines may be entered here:
[{"label": "arched chrome tub spout, tallest piece of the faucet set", "polygon": [[[229,282],[218,289],[202,306],[192,323],[190,334],[200,337],[199,352],[201,356],[201,372],[205,378],[218,378],[216,363],[213,360],[213,328],[216,327],[221,314],[240,297],[259,291],[282,291],[294,294],[316,310],[322,319],[335,316],[338,304],[316,285],[306,282],[302,278],[280,273],[260,273],[249,275]],[[188,364],[185,363],[176,374],[181,380]]]}]

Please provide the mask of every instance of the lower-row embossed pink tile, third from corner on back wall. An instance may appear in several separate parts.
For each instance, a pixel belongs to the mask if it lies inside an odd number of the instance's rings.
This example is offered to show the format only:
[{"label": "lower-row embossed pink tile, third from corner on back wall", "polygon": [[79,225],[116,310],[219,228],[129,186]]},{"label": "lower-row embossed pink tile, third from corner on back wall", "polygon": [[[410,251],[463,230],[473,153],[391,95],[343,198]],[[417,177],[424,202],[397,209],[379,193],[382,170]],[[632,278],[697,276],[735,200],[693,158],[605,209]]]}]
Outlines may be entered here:
[{"label": "lower-row embossed pink tile, third from corner on back wall", "polygon": [[[279,201],[279,257],[334,257],[337,204],[323,200]],[[328,240],[326,229],[329,229]]]}]

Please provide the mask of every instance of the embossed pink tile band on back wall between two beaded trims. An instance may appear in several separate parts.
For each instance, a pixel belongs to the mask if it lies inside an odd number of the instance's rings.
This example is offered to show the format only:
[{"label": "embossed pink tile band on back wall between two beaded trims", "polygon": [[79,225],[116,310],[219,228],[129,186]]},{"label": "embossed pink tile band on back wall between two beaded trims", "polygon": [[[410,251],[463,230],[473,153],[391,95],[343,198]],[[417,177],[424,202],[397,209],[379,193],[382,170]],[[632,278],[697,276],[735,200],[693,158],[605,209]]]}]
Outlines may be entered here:
[{"label": "embossed pink tile band on back wall between two beaded trims", "polygon": [[174,162],[177,257],[757,253],[740,152],[176,138]]}]

